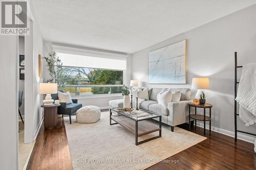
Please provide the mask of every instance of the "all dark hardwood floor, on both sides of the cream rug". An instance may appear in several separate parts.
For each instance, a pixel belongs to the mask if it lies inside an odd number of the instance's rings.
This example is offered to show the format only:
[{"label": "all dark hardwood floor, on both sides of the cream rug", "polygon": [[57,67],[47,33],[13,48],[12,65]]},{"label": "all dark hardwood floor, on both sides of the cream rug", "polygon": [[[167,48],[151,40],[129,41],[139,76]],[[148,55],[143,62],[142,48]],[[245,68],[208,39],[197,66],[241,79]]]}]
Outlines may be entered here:
[{"label": "all dark hardwood floor, on both sides of the cream rug", "polygon": [[[58,118],[58,126],[45,131],[42,125],[27,169],[72,169],[62,117]],[[179,127],[188,130],[187,124]],[[191,131],[203,136],[202,128]],[[147,169],[256,169],[252,143],[242,140],[235,143],[232,137],[213,131],[211,135],[206,131],[205,137],[206,140]]]}]

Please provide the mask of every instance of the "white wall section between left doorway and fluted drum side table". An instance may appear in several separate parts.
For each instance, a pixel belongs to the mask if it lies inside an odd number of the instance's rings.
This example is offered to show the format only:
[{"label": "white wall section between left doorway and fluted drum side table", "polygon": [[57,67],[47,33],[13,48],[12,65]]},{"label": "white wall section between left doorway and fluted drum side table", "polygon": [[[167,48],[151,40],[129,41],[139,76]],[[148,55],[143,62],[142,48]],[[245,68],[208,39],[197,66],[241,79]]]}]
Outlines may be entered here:
[{"label": "white wall section between left doorway and fluted drum side table", "polygon": [[36,19],[32,19],[30,35],[25,36],[25,143],[35,140],[44,117],[40,107],[43,95],[39,94],[42,78],[38,77],[38,55],[42,54],[43,39]]}]

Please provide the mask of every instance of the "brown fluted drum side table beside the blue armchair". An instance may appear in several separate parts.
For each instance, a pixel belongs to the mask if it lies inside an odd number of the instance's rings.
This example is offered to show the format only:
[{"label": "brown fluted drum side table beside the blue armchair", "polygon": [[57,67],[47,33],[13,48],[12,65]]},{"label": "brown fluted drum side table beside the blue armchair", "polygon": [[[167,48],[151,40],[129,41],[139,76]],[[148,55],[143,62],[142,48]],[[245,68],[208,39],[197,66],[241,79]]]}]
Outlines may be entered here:
[{"label": "brown fluted drum side table beside the blue armchair", "polygon": [[50,106],[47,105],[41,105],[41,107],[45,108],[44,109],[44,126],[45,129],[53,129],[57,127],[57,109],[60,104],[53,104]]}]

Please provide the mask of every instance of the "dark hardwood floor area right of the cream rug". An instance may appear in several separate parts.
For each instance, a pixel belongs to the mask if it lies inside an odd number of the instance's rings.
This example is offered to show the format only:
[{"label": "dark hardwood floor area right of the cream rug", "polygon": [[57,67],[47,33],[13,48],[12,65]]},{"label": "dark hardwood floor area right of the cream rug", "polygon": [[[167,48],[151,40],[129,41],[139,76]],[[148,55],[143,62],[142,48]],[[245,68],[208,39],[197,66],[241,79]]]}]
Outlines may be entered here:
[{"label": "dark hardwood floor area right of the cream rug", "polygon": [[[188,130],[188,125],[178,126]],[[191,130],[199,135],[204,134],[203,128]],[[190,147],[166,160],[170,163],[159,162],[149,168],[151,169],[256,169],[256,153],[254,144],[206,130],[207,139]],[[166,162],[165,160],[165,162]],[[172,163],[178,161],[179,163]]]}]

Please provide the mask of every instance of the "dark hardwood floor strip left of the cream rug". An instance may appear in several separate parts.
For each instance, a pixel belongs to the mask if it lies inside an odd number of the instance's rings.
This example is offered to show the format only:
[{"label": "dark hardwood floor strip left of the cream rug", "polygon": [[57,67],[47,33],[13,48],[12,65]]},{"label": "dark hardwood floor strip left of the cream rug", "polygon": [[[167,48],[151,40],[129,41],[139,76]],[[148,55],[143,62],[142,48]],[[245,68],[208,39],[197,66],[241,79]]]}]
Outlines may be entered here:
[{"label": "dark hardwood floor strip left of the cream rug", "polygon": [[73,169],[62,117],[58,117],[57,126],[46,131],[42,124],[27,169]]}]

